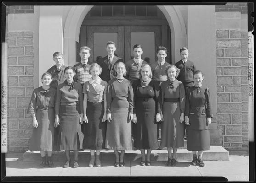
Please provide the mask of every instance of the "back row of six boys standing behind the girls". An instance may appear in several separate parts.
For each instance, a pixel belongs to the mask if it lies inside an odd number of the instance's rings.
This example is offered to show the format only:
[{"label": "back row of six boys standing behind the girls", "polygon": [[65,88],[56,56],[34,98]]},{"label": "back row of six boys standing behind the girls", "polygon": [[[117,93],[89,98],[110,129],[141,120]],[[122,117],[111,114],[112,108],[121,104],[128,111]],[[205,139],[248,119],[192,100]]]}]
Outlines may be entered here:
[{"label": "back row of six boys standing behind the girls", "polygon": [[[112,73],[114,72],[114,64],[118,61],[123,62],[122,58],[114,54],[115,50],[115,43],[113,41],[108,41],[106,45],[107,56],[100,58],[97,62],[102,68],[102,73],[100,77],[106,82],[114,77],[112,76]],[[131,82],[139,79],[139,70],[141,65],[148,64],[146,61],[141,59],[142,54],[142,47],[139,44],[134,45],[134,58],[125,63],[127,71],[125,77]],[[80,48],[79,55],[81,57],[81,61],[78,64],[74,65],[74,69],[76,71],[74,81],[83,85],[91,78],[91,75],[89,73],[89,67],[91,63],[88,62],[88,58],[91,55],[91,49],[87,46],[83,46]],[[165,58],[167,56],[167,50],[165,47],[159,46],[156,55],[158,60],[151,63],[150,66],[152,68],[153,79],[159,81],[160,85],[163,81],[167,80],[165,68],[170,64],[165,61]],[[175,64],[175,66],[181,70],[177,77],[177,80],[181,81],[184,84],[185,89],[187,89],[188,87],[193,86],[193,73],[196,68],[194,63],[188,60],[188,49],[186,47],[182,47],[180,49],[180,55],[181,60]],[[63,83],[65,80],[64,69],[66,66],[63,65],[63,54],[60,52],[55,52],[53,54],[53,60],[55,61],[55,65],[47,70],[47,72],[51,73],[52,75],[51,87],[57,88],[57,86]]]}]

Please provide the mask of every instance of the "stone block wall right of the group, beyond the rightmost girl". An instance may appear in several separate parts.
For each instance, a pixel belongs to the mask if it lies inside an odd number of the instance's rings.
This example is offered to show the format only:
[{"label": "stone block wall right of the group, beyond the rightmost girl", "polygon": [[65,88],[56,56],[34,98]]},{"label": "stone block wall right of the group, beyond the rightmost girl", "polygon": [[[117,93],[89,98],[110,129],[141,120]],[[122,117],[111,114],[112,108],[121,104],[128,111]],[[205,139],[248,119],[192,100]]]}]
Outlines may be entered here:
[{"label": "stone block wall right of the group, beyond the rightmost girl", "polygon": [[217,121],[222,145],[248,146],[247,32],[217,30]]}]

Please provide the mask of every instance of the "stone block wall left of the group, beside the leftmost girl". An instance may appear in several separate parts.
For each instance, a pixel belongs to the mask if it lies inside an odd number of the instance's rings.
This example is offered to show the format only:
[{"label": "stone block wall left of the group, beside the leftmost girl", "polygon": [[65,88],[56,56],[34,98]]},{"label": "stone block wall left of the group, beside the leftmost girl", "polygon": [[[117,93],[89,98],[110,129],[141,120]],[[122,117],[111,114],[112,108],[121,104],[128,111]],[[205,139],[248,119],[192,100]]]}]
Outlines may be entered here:
[{"label": "stone block wall left of the group, beside the leftmost girl", "polygon": [[8,151],[28,150],[32,118],[26,114],[33,91],[33,32],[7,32]]}]

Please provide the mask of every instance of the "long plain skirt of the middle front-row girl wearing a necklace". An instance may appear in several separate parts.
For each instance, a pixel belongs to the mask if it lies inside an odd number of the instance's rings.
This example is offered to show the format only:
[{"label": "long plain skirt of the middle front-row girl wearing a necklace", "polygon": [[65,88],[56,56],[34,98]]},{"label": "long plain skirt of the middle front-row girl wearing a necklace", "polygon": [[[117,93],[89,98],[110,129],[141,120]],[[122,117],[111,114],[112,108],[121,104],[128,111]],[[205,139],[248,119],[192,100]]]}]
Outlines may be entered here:
[{"label": "long plain skirt of the middle front-row girl wearing a necklace", "polygon": [[107,124],[107,149],[132,150],[131,122],[128,123],[129,108],[110,108],[111,123]]}]

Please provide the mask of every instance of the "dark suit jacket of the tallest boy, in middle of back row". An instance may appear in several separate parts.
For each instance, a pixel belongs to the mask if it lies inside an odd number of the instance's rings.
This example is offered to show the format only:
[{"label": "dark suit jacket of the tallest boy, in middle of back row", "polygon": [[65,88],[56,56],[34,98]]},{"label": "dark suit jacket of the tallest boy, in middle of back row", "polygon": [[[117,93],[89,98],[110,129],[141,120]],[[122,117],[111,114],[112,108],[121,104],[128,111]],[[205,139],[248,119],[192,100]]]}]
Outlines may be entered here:
[{"label": "dark suit jacket of the tallest boy, in middle of back row", "polygon": [[[106,82],[111,80],[113,78],[112,73],[114,72],[114,65],[115,65],[116,62],[119,62],[119,61],[123,62],[123,59],[114,55],[114,58],[112,59],[111,68],[109,68],[108,56],[105,56],[105,57],[99,59],[98,64],[102,68],[102,72],[100,74],[100,78],[102,80],[106,81]],[[110,73],[110,71],[112,71],[112,72]]]}]

